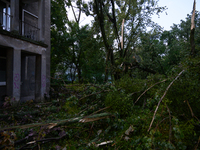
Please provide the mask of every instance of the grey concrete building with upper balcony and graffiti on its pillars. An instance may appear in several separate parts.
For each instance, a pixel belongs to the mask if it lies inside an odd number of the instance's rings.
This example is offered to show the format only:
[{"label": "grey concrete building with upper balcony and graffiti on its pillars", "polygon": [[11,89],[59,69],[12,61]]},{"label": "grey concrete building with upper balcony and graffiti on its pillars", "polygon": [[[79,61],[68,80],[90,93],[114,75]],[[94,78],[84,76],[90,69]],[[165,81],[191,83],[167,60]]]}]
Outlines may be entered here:
[{"label": "grey concrete building with upper balcony and graffiti on its pillars", "polygon": [[0,102],[40,101],[50,87],[50,0],[0,0]]}]

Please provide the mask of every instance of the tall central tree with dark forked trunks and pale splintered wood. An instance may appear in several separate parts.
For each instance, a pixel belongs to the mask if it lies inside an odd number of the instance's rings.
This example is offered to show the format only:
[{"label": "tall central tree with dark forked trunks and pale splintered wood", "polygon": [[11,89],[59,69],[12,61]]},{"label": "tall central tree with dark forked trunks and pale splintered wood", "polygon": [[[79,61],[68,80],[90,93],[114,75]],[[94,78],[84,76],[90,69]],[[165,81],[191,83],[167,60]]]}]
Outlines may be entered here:
[{"label": "tall central tree with dark forked trunks and pale splintered wood", "polygon": [[[155,0],[94,0],[89,4],[85,8],[93,12],[90,14],[95,19],[94,25],[100,31],[106,49],[105,80],[108,79],[109,70],[111,76],[118,79],[120,73],[126,71],[119,71],[120,65],[134,61],[141,32],[147,27],[157,27],[151,21],[151,15],[163,11],[164,7],[157,7]],[[89,12],[89,9],[85,12]],[[138,63],[135,67],[143,69]]]}]

